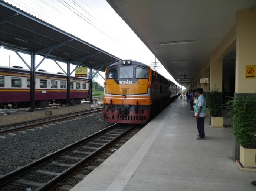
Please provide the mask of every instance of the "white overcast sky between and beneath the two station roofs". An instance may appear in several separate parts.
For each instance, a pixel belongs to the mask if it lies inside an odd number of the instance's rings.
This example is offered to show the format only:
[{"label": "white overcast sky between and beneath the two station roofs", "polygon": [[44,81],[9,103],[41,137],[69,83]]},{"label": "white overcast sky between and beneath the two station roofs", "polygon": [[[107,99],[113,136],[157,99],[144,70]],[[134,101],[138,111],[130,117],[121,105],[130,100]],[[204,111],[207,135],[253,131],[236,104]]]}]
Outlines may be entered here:
[{"label": "white overcast sky between and beneath the two station roofs", "polygon": [[[105,0],[4,1],[118,58],[133,59],[147,65],[152,65],[155,62],[155,56]],[[21,55],[30,65],[30,56]],[[13,51],[1,48],[0,58],[0,65],[19,65],[27,68]],[[36,64],[41,59],[36,57]],[[160,64],[158,60],[157,62]],[[66,71],[66,63],[58,63]],[[44,61],[38,69],[45,69],[54,73],[62,72],[56,63],[50,60]],[[101,74],[104,76],[103,72]],[[160,74],[174,81],[163,66],[161,66]],[[96,81],[103,85],[101,76]],[[178,85],[177,82],[175,83]]]}]

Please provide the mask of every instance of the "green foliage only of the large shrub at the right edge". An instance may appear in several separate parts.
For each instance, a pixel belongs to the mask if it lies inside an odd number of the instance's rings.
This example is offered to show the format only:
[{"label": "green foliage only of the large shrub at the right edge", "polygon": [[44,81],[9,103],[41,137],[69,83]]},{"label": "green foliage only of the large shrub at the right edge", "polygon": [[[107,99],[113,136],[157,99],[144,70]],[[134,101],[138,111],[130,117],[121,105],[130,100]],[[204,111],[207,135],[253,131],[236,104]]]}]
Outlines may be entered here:
[{"label": "green foliage only of the large shrub at the right edge", "polygon": [[233,118],[233,130],[240,146],[256,149],[256,93],[252,95],[238,95],[229,100],[227,115]]}]

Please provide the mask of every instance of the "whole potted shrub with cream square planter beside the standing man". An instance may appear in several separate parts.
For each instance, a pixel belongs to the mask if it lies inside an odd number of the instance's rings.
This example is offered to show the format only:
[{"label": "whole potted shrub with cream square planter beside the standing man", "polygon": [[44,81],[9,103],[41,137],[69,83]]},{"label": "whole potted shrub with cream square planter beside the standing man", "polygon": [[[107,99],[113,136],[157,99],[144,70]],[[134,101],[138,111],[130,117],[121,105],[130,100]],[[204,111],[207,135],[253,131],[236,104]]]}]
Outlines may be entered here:
[{"label": "whole potted shrub with cream square planter beside the standing man", "polygon": [[206,105],[209,107],[211,116],[211,127],[224,127],[222,117],[222,100],[221,93],[217,90],[211,90],[206,93]]}]

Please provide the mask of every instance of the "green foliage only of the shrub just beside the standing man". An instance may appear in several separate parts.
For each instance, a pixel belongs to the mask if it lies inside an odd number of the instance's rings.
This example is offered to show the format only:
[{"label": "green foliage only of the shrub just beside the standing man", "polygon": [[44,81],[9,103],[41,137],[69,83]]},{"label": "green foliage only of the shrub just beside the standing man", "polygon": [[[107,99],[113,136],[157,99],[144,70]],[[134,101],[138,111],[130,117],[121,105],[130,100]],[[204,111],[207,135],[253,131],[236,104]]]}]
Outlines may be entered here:
[{"label": "green foliage only of the shrub just beside the standing man", "polygon": [[209,107],[211,117],[222,117],[221,104],[221,93],[218,90],[206,93],[206,105]]}]

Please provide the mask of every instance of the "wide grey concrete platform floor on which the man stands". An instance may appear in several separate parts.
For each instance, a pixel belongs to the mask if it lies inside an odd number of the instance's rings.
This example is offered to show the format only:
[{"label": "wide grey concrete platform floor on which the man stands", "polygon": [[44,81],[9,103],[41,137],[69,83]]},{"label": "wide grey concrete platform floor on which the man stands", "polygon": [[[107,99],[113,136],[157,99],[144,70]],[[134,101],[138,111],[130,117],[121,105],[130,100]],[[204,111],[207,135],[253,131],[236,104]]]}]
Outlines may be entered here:
[{"label": "wide grey concrete platform floor on which the man stands", "polygon": [[206,116],[205,140],[196,140],[189,109],[189,101],[177,98],[70,191],[256,190],[250,183],[256,172],[232,159],[229,117],[225,128],[213,128]]}]

